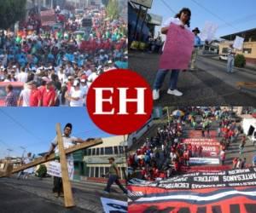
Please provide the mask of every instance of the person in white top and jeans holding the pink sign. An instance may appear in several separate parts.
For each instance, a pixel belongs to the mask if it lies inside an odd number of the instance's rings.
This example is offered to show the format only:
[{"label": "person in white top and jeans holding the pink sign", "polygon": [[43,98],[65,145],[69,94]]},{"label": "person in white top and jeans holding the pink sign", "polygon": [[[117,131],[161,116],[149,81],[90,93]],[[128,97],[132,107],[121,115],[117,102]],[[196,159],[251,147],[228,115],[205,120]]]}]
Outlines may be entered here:
[{"label": "person in white top and jeans holding the pink sign", "polygon": [[[183,8],[178,14],[176,14],[175,18],[170,17],[166,20],[164,27],[161,28],[162,34],[167,34],[169,26],[171,23],[175,25],[181,26],[183,29],[189,29],[191,11],[190,9]],[[154,89],[153,89],[153,100],[158,100],[160,98],[160,88],[165,80],[166,74],[168,73],[168,69],[159,69],[156,77],[154,78]],[[173,69],[169,81],[169,89],[167,90],[167,94],[182,96],[183,93],[177,90],[177,78],[180,70]]]}]

